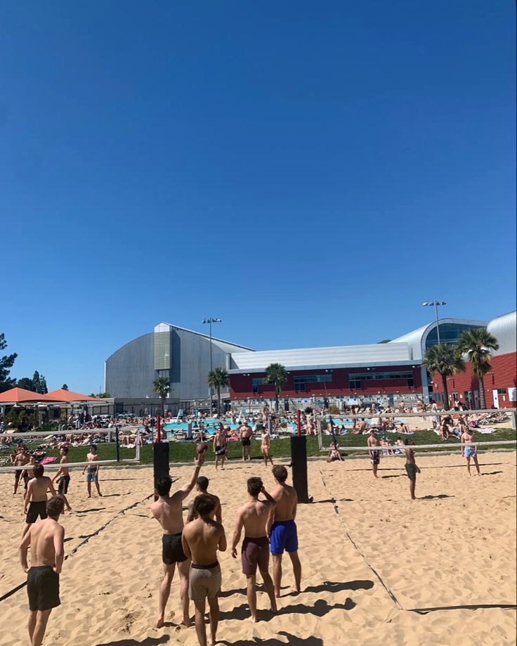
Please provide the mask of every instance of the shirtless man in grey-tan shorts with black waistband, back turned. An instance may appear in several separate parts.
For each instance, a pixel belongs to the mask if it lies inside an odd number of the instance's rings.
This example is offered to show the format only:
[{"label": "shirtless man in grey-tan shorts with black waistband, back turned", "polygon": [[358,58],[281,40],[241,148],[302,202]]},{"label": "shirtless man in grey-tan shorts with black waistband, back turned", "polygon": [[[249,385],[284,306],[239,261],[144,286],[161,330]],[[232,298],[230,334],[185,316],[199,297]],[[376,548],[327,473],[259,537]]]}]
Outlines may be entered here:
[{"label": "shirtless man in grey-tan shorts with black waistband, back turned", "polygon": [[196,633],[199,646],[207,646],[204,626],[205,602],[210,607],[211,646],[217,642],[219,621],[218,595],[221,591],[221,567],[217,550],[226,550],[226,536],[221,523],[211,518],[215,510],[214,498],[202,493],[194,500],[196,519],[183,530],[183,550],[192,559],[188,594],[196,607]]}]

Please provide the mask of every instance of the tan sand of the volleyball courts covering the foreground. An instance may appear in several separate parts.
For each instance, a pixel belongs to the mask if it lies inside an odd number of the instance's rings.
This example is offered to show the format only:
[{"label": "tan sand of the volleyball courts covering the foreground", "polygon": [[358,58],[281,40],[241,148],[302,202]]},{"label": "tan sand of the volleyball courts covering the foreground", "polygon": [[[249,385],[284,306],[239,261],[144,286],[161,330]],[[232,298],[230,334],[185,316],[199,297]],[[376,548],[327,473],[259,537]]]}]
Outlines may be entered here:
[{"label": "tan sand of the volleyball courts covering the foreground", "polygon": [[[259,591],[259,622],[251,624],[240,559],[228,550],[220,558],[218,639],[240,646],[514,644],[516,611],[497,606],[516,603],[516,453],[483,453],[483,477],[469,477],[459,456],[417,462],[419,500],[411,501],[402,458],[382,460],[377,480],[366,458],[310,461],[314,502],[300,505],[296,519],[302,593],[289,594],[286,556],[280,612],[271,615]],[[227,464],[202,473],[221,497],[230,543],[246,479],[260,475],[272,489],[273,477],[258,462]],[[176,487],[191,474],[190,466],[171,467]],[[17,555],[22,496],[12,496],[12,483],[12,474],[0,475],[0,597],[25,581]],[[87,500],[80,472],[72,472],[74,511],[61,519],[68,555],[62,605],[44,645],[196,645],[195,628],[178,626],[176,577],[166,626],[153,628],[162,560],[160,528],[148,509],[152,468],[103,468],[101,488],[103,498]],[[27,614],[25,588],[0,602],[1,645],[28,642]]]}]

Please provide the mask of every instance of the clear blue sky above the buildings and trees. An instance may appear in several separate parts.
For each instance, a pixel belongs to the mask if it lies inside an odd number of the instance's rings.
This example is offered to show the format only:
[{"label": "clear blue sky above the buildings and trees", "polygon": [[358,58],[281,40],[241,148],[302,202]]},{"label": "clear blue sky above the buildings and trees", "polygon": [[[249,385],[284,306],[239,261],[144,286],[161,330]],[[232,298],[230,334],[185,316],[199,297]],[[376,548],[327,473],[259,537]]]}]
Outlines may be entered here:
[{"label": "clear blue sky above the buildings and trees", "polygon": [[97,391],[159,321],[268,349],[513,309],[514,12],[4,1],[11,374]]}]

